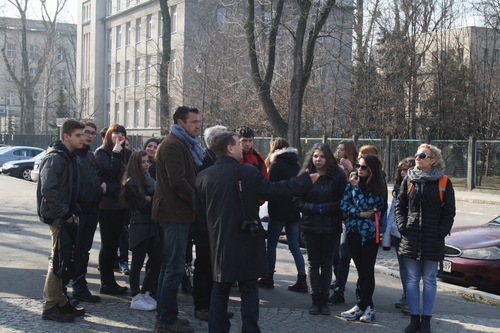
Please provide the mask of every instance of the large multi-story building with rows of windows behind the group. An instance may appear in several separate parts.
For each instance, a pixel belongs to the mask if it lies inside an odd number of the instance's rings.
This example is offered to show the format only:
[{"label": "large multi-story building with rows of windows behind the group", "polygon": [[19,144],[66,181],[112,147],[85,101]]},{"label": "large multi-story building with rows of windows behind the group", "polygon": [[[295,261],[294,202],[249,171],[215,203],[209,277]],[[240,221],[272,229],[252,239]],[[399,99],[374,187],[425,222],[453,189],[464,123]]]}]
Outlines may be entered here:
[{"label": "large multi-story building with rows of windows behind the group", "polygon": [[[232,126],[232,122],[238,123],[246,117],[242,115],[235,120],[234,114],[261,109],[248,70],[248,51],[241,23],[244,22],[245,3],[174,0],[168,1],[168,6],[171,17],[170,113],[179,105],[193,105],[202,111],[202,126],[204,119],[211,119],[211,124]],[[269,4],[261,6],[264,24],[271,17],[269,9]],[[323,50],[327,45],[335,48],[335,52],[324,51],[324,54],[330,58],[336,54],[338,58],[335,61],[323,58],[322,62],[331,69],[323,72],[334,73],[331,76],[336,79],[316,75],[318,86],[325,83],[335,86],[341,95],[337,99],[341,108],[350,98],[352,11],[352,5],[335,7],[332,22],[342,16],[342,24],[328,25],[330,38],[325,37],[322,44]],[[162,31],[158,1],[79,0],[77,91],[82,118],[94,119],[99,127],[123,124],[131,134],[162,134],[162,129],[168,125],[160,120],[158,73]],[[342,50],[337,50],[340,47]],[[288,64],[285,71],[289,70],[290,56],[278,56]],[[283,86],[288,87],[289,82]],[[253,97],[241,101],[249,95]],[[332,116],[333,113],[330,118]],[[171,123],[171,116],[167,118]]]}]

